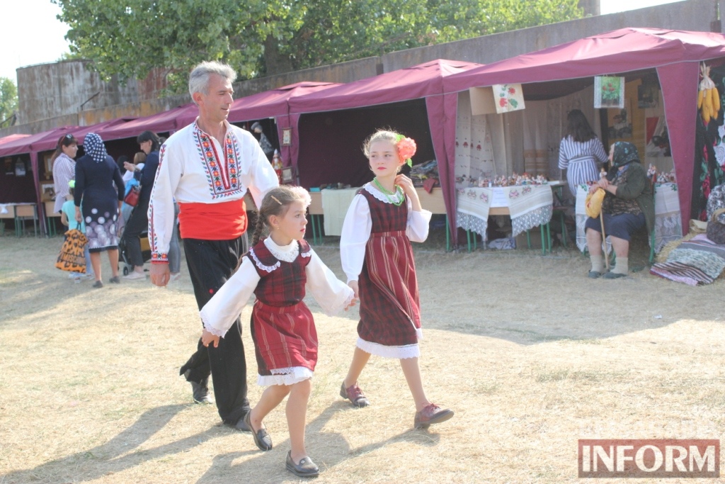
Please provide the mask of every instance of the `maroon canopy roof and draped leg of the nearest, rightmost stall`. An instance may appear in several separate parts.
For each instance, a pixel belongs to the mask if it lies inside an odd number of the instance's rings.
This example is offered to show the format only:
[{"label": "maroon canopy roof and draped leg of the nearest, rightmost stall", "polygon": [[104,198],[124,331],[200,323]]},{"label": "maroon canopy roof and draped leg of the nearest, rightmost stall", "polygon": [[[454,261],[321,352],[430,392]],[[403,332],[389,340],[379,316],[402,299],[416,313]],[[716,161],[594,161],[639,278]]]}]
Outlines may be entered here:
[{"label": "maroon canopy roof and draped leg of the nearest, rightmost stall", "polygon": [[[698,64],[724,56],[725,36],[720,33],[623,28],[452,75],[444,79],[444,90],[563,81],[655,68],[665,103],[682,227],[687,230],[695,163]],[[523,92],[526,94],[526,87]]]}]

